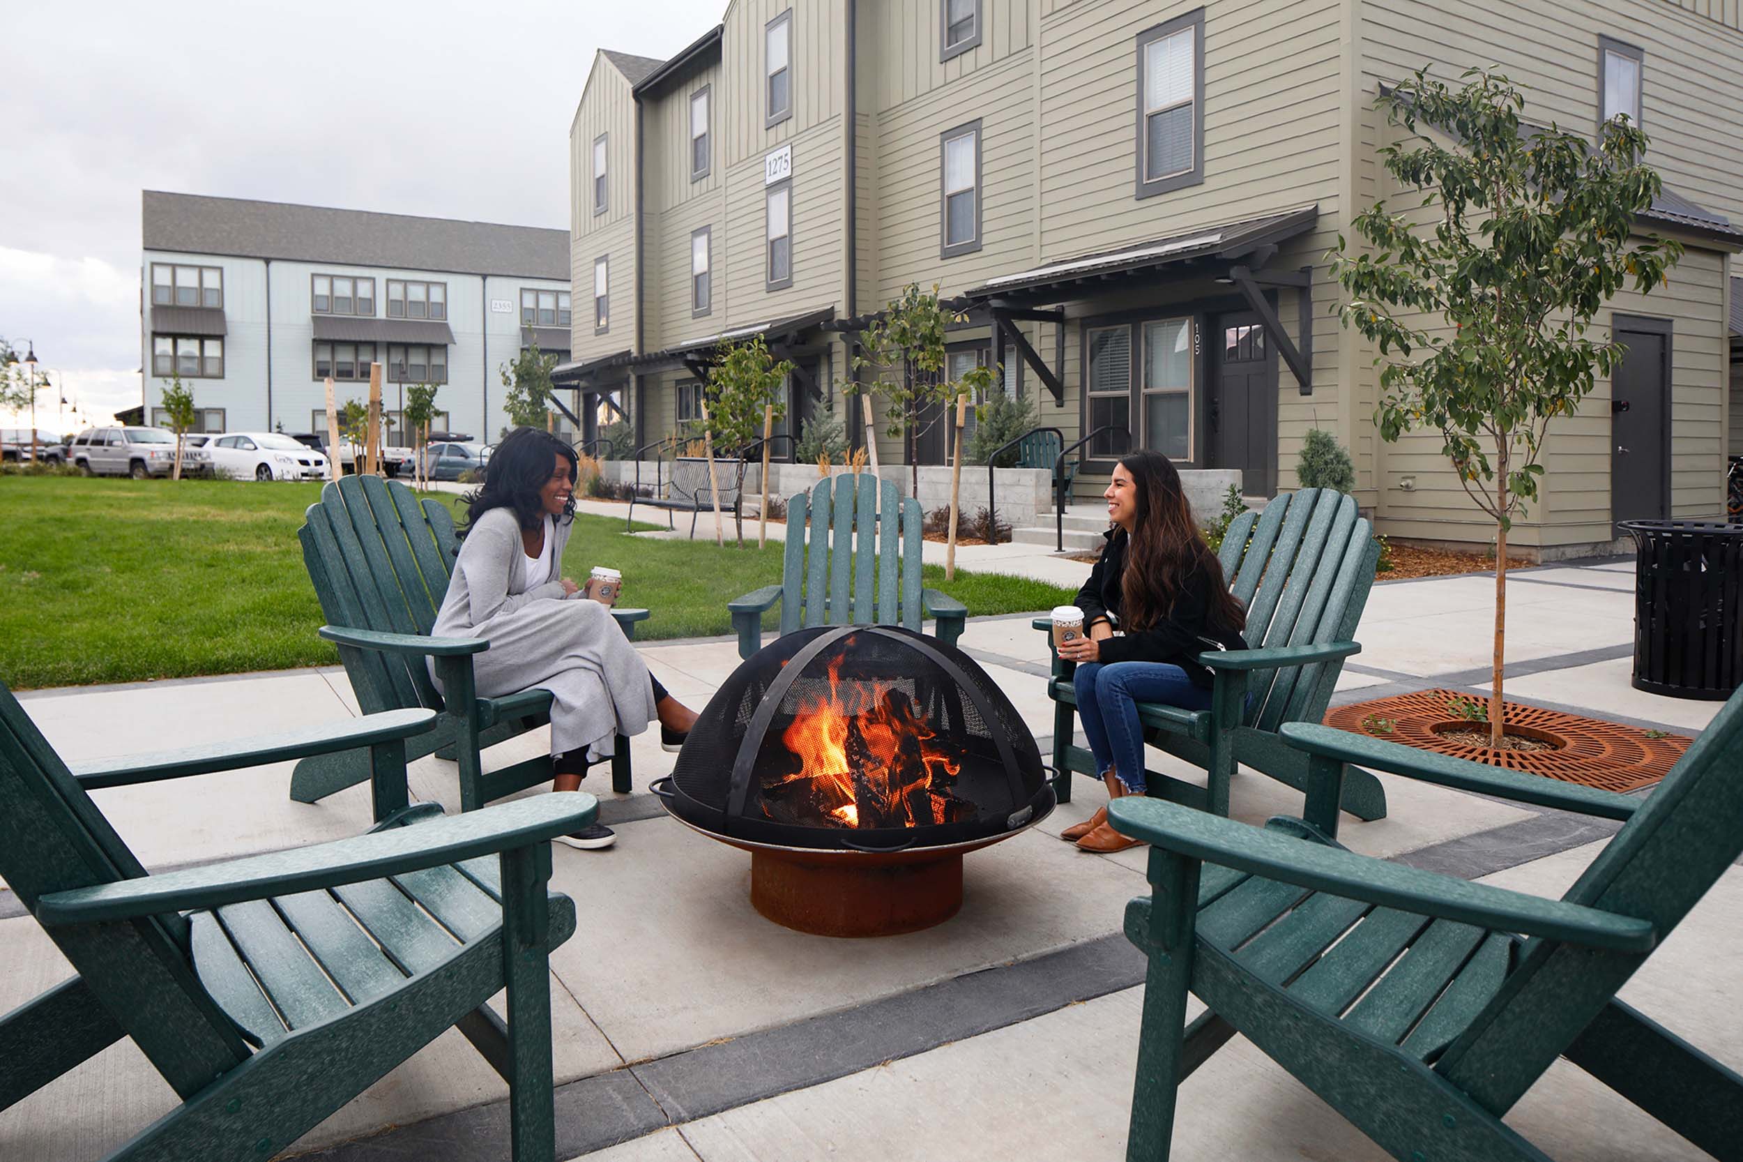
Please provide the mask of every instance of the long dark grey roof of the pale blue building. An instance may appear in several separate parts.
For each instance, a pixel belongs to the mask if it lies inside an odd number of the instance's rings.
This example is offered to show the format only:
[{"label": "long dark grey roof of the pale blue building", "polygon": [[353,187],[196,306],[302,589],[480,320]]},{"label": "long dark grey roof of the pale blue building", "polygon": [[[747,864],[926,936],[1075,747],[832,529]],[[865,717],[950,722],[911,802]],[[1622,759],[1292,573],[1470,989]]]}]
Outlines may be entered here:
[{"label": "long dark grey roof of the pale blue building", "polygon": [[145,249],[336,262],[566,283],[568,230],[413,218],[246,197],[143,194]]}]

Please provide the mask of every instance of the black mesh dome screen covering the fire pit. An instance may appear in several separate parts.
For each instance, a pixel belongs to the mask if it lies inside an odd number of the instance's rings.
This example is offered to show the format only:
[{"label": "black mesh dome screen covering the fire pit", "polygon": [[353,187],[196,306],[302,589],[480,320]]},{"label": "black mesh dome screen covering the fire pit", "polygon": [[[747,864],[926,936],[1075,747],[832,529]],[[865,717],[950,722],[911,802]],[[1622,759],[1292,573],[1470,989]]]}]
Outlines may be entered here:
[{"label": "black mesh dome screen covering the fire pit", "polygon": [[987,839],[1053,808],[1016,708],[966,654],[898,626],[816,626],[744,661],[671,775],[720,836],[899,850]]}]

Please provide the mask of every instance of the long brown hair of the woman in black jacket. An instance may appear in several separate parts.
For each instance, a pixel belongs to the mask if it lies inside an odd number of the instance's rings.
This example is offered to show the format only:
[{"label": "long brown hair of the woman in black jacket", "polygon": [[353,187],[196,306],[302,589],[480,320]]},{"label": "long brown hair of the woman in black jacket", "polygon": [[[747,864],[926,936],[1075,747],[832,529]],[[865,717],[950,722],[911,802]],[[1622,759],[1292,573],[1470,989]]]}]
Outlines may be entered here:
[{"label": "long brown hair of the woman in black jacket", "polygon": [[1126,569],[1119,581],[1122,625],[1149,630],[1166,621],[1187,579],[1203,572],[1210,584],[1204,598],[1211,628],[1246,628],[1246,609],[1229,593],[1222,562],[1192,523],[1192,509],[1173,462],[1161,452],[1133,452],[1121,457],[1119,466],[1131,475],[1136,492]]}]

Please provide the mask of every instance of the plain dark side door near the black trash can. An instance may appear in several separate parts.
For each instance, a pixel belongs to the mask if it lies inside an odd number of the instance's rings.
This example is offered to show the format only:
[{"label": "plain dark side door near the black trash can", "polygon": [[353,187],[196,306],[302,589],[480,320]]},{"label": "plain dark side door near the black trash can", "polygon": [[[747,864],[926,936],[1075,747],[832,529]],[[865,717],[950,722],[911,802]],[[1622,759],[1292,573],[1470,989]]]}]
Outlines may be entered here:
[{"label": "plain dark side door near the black trash can", "polygon": [[1670,323],[1616,316],[1626,347],[1611,377],[1611,520],[1670,516]]}]

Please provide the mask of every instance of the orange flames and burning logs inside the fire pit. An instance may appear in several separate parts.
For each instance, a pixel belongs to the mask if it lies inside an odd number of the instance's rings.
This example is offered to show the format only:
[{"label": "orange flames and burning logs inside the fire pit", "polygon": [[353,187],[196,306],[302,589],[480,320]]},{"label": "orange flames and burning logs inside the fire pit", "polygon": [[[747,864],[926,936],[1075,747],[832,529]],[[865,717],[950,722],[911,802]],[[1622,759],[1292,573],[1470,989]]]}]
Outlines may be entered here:
[{"label": "orange flames and burning logs inside the fire pit", "polygon": [[952,820],[950,792],[962,761],[938,738],[906,693],[891,682],[842,680],[828,666],[828,691],[812,694],[781,735],[800,761],[772,787],[809,783],[826,825],[919,827]]}]

